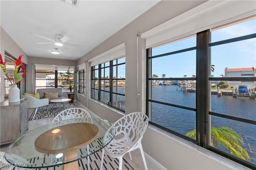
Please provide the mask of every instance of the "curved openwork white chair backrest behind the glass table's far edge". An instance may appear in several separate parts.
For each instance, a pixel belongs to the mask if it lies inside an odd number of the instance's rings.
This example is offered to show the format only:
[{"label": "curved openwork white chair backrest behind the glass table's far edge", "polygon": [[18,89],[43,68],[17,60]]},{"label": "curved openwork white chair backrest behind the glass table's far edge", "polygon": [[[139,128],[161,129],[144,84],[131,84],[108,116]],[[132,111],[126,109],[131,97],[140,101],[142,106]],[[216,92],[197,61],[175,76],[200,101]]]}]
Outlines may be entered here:
[{"label": "curved openwork white chair backrest behind the glass table's far edge", "polygon": [[66,120],[66,119],[90,118],[90,117],[91,115],[88,113],[88,111],[83,108],[68,108],[66,110],[63,110],[59,114],[57,114],[55,118],[52,120],[52,123],[58,122],[61,120]]}]

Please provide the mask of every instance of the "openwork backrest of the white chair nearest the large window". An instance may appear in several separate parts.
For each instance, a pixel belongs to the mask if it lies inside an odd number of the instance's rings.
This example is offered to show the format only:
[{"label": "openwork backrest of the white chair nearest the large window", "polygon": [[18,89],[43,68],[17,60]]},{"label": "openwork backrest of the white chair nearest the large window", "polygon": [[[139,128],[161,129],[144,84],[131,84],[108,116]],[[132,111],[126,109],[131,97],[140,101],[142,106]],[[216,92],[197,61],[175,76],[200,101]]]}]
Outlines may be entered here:
[{"label": "openwork backrest of the white chair nearest the large window", "polygon": [[115,136],[123,136],[133,144],[142,140],[143,134],[148,126],[148,116],[141,112],[132,112],[114,123]]}]

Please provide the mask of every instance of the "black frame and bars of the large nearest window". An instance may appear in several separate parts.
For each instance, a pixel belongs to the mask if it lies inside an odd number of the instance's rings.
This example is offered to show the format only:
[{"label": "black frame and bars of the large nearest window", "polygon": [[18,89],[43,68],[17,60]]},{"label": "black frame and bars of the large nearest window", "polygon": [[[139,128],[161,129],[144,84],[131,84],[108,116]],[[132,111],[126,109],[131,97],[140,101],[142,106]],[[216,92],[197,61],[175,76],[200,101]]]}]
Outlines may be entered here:
[{"label": "black frame and bars of the large nearest window", "polygon": [[[221,118],[228,118],[231,120],[237,120],[240,122],[245,122],[249,124],[256,124],[256,121],[251,119],[244,119],[239,118],[236,116],[228,116],[222,113],[216,113],[210,111],[210,82],[212,81],[254,81],[256,82],[256,77],[211,77],[211,72],[206,72],[205,70],[211,70],[211,54],[210,49],[212,46],[217,46],[221,44],[241,41],[241,40],[247,40],[250,38],[256,38],[256,34],[249,34],[246,36],[240,36],[236,38],[230,38],[227,40],[221,40],[218,42],[210,42],[210,29],[204,30],[202,32],[197,33],[196,37],[196,78],[158,78],[157,80],[196,80],[196,140],[193,140],[191,138],[188,138],[187,136],[184,136],[178,132],[175,132],[173,130],[164,128],[160,126],[159,124],[156,124],[154,122],[149,121],[150,124],[157,126],[158,128],[161,128],[167,132],[170,132],[176,136],[179,136],[181,138],[184,138],[190,142],[193,142],[201,147],[204,147],[212,152],[215,152],[217,154],[220,154],[230,160],[233,160],[235,162],[238,162],[244,166],[247,166],[249,168],[255,168],[256,165],[252,164],[246,160],[242,160],[232,154],[229,154],[227,152],[223,152],[217,148],[214,148],[210,145],[210,115],[212,116],[218,116]],[[184,49],[188,50],[188,49]],[[179,50],[180,51],[180,50]],[[177,51],[178,52],[178,51]],[[167,54],[175,54],[176,52],[170,52],[166,54],[160,54],[157,56],[152,56],[152,47],[146,49],[146,114],[151,120],[151,103],[150,102],[158,102],[160,104],[165,104],[169,106],[174,106],[172,104],[166,104],[164,102],[154,101],[150,100],[151,98],[151,81],[156,80],[155,78],[151,78],[152,76],[152,68],[151,68],[151,60],[152,58],[165,56]],[[174,107],[182,108],[180,106],[175,105]],[[186,108],[189,110],[189,108]]]}]

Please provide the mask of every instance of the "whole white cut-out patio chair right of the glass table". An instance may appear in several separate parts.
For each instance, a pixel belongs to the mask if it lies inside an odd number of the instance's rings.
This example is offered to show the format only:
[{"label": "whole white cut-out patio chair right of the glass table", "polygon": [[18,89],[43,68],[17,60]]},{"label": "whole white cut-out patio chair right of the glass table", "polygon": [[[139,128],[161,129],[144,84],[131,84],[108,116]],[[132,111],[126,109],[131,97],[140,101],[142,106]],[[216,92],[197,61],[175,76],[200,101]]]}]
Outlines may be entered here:
[{"label": "whole white cut-out patio chair right of the glass table", "polygon": [[[132,160],[130,151],[137,148],[140,149],[142,160],[145,169],[147,170],[148,168],[141,140],[148,126],[148,116],[141,112],[133,112],[117,120],[114,123],[114,126],[116,128],[116,135],[113,140],[111,140],[111,142],[104,149],[102,149],[100,170],[102,170],[104,162],[104,153],[113,158],[118,158],[119,170],[122,170],[122,160],[124,154],[129,152],[130,160]],[[108,138],[108,136],[105,138]]]}]

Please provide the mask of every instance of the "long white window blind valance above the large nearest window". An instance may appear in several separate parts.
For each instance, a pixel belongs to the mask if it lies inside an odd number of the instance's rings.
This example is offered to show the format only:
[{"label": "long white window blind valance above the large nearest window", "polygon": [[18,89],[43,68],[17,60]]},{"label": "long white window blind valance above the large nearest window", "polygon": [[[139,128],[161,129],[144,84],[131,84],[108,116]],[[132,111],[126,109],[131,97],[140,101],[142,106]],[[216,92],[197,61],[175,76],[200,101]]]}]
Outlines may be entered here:
[{"label": "long white window blind valance above the large nearest window", "polygon": [[141,34],[146,49],[256,14],[256,1],[207,1]]}]

